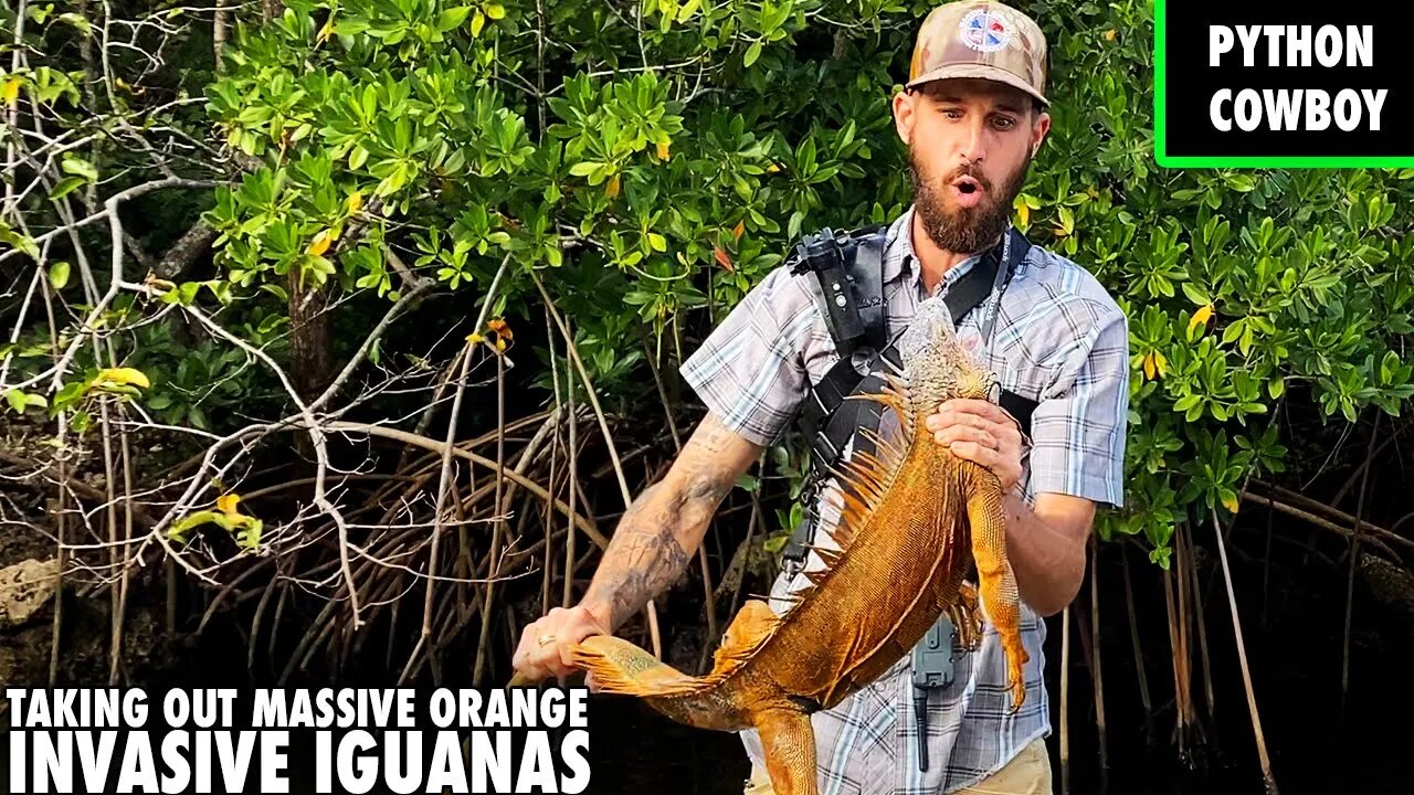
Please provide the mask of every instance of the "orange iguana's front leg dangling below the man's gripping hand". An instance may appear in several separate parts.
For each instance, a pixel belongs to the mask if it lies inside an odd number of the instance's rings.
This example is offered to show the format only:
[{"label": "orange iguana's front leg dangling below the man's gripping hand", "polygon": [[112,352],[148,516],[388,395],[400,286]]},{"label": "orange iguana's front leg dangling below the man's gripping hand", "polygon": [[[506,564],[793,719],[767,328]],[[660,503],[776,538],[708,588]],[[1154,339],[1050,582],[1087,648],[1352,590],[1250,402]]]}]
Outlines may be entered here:
[{"label": "orange iguana's front leg dangling below the man's gripping hand", "polygon": [[1021,596],[1017,577],[1007,560],[1007,518],[1001,508],[1001,492],[977,484],[967,499],[967,519],[971,523],[973,557],[977,562],[977,581],[987,618],[1001,635],[1007,655],[1007,685],[1011,689],[1011,712],[1027,700],[1027,680],[1022,666],[1029,656],[1021,644]]}]

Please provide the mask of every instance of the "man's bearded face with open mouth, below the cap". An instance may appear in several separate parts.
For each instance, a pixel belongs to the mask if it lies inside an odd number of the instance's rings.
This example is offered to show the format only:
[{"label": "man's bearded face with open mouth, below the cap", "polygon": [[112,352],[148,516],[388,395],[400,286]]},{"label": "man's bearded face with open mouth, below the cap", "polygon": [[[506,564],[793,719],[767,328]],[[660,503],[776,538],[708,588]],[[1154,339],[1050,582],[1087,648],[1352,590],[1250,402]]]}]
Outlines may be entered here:
[{"label": "man's bearded face with open mouth, below the cap", "polygon": [[894,100],[909,149],[919,221],[939,248],[973,253],[994,243],[1051,119],[1031,98],[991,81],[949,79]]}]

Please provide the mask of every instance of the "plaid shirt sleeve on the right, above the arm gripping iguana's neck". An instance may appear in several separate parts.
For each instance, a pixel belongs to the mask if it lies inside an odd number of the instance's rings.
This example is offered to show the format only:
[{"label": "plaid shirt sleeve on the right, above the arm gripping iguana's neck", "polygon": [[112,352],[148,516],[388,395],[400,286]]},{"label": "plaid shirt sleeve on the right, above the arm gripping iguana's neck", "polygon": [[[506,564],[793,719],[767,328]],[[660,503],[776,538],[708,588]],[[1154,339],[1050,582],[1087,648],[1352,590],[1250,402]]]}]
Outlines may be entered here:
[{"label": "plaid shirt sleeve on the right, above the arm gripping iguana's neck", "polygon": [[1124,506],[1128,341],[1124,313],[1110,307],[1069,349],[1032,413],[1032,494],[1059,492]]}]

